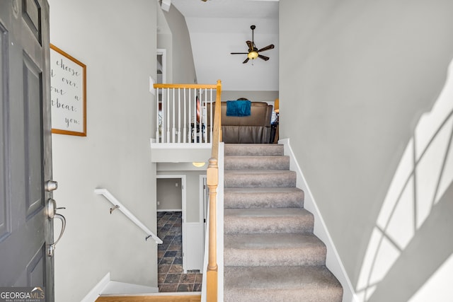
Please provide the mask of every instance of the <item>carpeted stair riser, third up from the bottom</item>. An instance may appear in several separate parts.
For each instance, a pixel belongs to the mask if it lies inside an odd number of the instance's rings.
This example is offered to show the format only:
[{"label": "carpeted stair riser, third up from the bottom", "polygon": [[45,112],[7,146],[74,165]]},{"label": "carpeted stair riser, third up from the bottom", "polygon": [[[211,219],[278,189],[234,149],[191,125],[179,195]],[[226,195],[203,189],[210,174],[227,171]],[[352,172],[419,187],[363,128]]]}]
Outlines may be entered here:
[{"label": "carpeted stair riser, third up from the bottom", "polygon": [[225,216],[224,232],[229,234],[312,233],[313,216],[253,217]]}]

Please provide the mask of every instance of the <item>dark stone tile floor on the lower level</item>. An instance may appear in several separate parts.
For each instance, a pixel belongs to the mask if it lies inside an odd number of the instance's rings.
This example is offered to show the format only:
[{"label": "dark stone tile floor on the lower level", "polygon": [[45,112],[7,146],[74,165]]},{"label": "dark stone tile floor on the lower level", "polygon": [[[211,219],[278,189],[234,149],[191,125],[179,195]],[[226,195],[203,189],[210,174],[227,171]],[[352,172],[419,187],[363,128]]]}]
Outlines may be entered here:
[{"label": "dark stone tile floor on the lower level", "polygon": [[202,274],[183,271],[182,213],[157,212],[157,236],[164,241],[158,245],[159,292],[201,291]]}]

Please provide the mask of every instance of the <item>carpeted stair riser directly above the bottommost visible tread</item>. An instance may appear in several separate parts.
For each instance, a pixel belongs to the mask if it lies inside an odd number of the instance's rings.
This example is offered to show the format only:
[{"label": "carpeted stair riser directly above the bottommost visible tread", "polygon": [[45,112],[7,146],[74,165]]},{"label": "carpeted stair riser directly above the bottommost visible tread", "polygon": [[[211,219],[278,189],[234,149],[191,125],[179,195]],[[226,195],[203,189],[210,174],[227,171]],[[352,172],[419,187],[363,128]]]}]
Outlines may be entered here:
[{"label": "carpeted stair riser directly above the bottommost visible tread", "polygon": [[[247,261],[244,262],[243,260]],[[267,267],[325,265],[326,248],[315,245],[312,248],[279,249],[232,249],[224,250],[224,265],[231,267]]]}]

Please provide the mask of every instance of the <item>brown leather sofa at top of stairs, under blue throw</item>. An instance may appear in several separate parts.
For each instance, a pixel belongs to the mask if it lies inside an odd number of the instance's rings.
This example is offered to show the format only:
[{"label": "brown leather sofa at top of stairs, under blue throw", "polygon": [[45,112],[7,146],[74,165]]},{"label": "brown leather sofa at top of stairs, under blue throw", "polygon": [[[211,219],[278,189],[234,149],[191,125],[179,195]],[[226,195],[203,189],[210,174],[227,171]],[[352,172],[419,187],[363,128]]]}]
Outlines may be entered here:
[{"label": "brown leather sofa at top of stairs, under blue throw", "polygon": [[[226,102],[222,102],[222,139],[226,144],[268,144],[273,106],[265,102],[251,102],[251,115],[226,116]],[[207,104],[207,133],[210,133],[210,104]],[[214,110],[212,112],[214,115]]]}]

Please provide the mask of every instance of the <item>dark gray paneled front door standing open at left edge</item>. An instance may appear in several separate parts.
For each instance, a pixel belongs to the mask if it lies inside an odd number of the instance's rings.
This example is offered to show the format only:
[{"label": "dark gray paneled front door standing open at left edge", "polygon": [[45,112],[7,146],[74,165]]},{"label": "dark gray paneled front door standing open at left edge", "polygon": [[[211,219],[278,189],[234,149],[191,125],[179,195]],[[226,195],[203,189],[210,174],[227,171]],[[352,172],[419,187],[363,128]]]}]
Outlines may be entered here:
[{"label": "dark gray paneled front door standing open at left edge", "polygon": [[49,44],[47,0],[0,1],[0,286],[54,301]]}]

